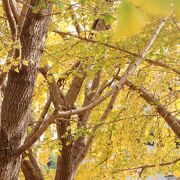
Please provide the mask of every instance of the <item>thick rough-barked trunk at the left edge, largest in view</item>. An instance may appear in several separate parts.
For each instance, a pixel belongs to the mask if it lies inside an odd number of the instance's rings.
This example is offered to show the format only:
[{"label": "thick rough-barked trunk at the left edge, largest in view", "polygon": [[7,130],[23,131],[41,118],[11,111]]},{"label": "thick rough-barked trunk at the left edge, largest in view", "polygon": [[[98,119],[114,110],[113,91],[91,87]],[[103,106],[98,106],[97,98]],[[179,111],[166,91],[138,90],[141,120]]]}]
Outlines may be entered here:
[{"label": "thick rough-barked trunk at the left edge, largest in view", "polygon": [[[35,4],[31,1],[31,5]],[[0,179],[18,179],[21,157],[14,152],[23,144],[28,125],[28,112],[33,97],[38,64],[48,31],[51,5],[38,13],[29,9],[21,34],[22,59],[29,62],[22,65],[20,72],[10,70],[1,108],[0,124]]]}]

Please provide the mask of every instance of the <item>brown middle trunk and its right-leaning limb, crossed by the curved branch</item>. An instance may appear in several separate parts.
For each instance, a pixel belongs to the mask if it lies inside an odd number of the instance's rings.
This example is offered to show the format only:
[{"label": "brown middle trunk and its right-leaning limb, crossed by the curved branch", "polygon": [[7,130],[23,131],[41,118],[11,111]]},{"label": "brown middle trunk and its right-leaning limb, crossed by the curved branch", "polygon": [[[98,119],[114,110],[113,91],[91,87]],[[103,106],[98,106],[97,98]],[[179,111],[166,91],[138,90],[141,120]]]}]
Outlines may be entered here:
[{"label": "brown middle trunk and its right-leaning limb, crossed by the curved branch", "polygon": [[[80,89],[83,85],[86,74],[83,72],[82,66],[79,67],[83,77],[74,76],[70,88],[65,96],[65,109],[72,109],[74,103],[78,97]],[[71,116],[65,116],[64,118],[70,120]],[[58,138],[62,142],[61,155],[58,156],[57,170],[55,180],[72,180],[73,169],[72,169],[72,139],[71,132],[67,129],[70,126],[70,121],[59,121],[57,125]],[[67,137],[63,137],[65,133],[68,133]],[[69,143],[69,144],[67,144]]]}]

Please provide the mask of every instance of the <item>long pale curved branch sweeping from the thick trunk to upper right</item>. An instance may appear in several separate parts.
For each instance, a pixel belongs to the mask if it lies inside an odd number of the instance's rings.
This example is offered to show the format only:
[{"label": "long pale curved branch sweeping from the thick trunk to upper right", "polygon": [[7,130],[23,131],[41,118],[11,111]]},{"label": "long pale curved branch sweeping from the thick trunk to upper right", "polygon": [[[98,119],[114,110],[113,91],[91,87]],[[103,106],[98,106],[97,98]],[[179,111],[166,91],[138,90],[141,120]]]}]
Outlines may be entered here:
[{"label": "long pale curved branch sweeping from the thick trunk to upper right", "polygon": [[[167,18],[166,18],[167,19]],[[29,139],[29,141],[27,141],[24,145],[22,145],[20,148],[17,149],[17,151],[15,152],[15,155],[18,156],[20,154],[22,154],[26,149],[28,149],[34,142],[36,142],[36,140],[42,135],[42,133],[49,127],[49,125],[51,123],[54,122],[55,118],[62,118],[64,116],[69,116],[69,115],[73,115],[73,114],[80,114],[82,112],[85,112],[87,110],[90,110],[92,108],[94,108],[95,106],[99,105],[101,102],[105,101],[107,98],[109,98],[112,94],[114,94],[117,89],[120,90],[122,88],[122,85],[125,83],[125,81],[127,80],[127,78],[129,78],[129,76],[136,70],[136,68],[138,67],[138,65],[141,63],[141,61],[144,59],[144,57],[146,56],[146,54],[148,53],[148,50],[150,49],[151,45],[153,44],[153,42],[155,41],[156,37],[158,36],[159,32],[161,31],[162,27],[164,26],[166,19],[163,19],[161,21],[161,23],[159,24],[157,30],[155,31],[154,35],[152,36],[152,38],[150,39],[149,43],[146,45],[146,47],[144,48],[141,56],[139,58],[137,58],[134,63],[130,64],[128,66],[128,68],[126,69],[125,73],[121,76],[119,82],[117,83],[116,86],[114,86],[109,92],[107,92],[104,96],[100,97],[99,99],[95,100],[93,103],[85,106],[85,107],[81,107],[79,109],[75,109],[75,110],[69,110],[69,111],[60,111],[57,114],[52,114],[50,116],[49,119],[47,119],[46,121],[44,121],[44,123],[41,125],[41,127],[39,128],[38,131],[36,131],[36,133],[31,137],[31,139]]]}]

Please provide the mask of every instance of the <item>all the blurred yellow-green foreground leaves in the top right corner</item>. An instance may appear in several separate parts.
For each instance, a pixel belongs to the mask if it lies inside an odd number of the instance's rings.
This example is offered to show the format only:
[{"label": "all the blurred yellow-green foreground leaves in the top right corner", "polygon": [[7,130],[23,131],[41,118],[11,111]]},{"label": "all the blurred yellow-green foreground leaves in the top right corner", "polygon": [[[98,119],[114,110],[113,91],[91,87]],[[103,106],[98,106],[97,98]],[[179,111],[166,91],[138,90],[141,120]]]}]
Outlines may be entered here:
[{"label": "all the blurred yellow-green foreground leaves in the top right corner", "polygon": [[180,18],[179,0],[123,0],[118,8],[113,39],[118,41],[136,35],[146,25],[147,17],[166,17],[171,12],[175,18]]}]

